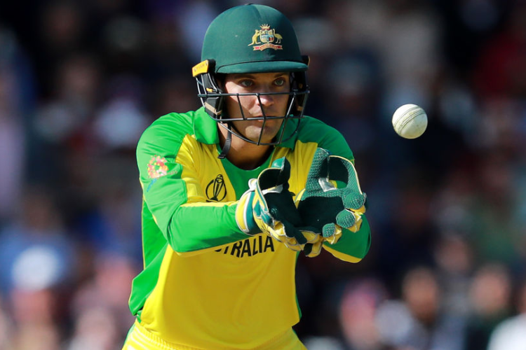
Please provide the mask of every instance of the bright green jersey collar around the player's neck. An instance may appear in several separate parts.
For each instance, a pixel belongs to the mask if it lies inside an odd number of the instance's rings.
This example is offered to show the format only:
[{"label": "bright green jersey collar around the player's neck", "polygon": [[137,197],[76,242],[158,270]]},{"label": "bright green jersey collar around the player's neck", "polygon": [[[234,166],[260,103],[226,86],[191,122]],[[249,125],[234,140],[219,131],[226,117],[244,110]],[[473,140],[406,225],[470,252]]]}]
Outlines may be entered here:
[{"label": "bright green jersey collar around the player's neck", "polygon": [[[285,135],[288,134],[288,132],[295,130],[297,123],[299,123],[299,120],[297,119],[289,120],[285,126],[287,128],[287,130],[285,130]],[[196,111],[194,118],[194,134],[196,135],[196,140],[203,144],[219,144],[217,122],[208,116],[208,113],[206,113],[204,107],[201,107]],[[278,146],[294,149],[296,140],[297,133],[289,140],[282,142]]]}]

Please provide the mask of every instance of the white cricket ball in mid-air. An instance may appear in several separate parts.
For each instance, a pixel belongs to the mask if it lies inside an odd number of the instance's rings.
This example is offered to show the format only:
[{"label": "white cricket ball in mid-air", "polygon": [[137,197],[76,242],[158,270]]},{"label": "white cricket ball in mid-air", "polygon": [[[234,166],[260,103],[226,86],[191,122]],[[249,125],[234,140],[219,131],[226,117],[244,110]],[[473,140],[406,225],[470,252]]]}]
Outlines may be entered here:
[{"label": "white cricket ball in mid-air", "polygon": [[426,112],[416,104],[404,104],[393,113],[393,128],[405,139],[416,139],[422,136],[426,127]]}]

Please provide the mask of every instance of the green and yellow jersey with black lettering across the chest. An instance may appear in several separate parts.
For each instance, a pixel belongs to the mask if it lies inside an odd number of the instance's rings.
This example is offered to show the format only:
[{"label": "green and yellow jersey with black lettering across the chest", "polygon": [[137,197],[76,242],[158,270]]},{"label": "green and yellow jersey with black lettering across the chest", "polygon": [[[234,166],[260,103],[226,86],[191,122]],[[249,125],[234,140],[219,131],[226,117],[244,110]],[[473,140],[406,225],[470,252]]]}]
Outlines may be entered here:
[{"label": "green and yellow jersey with black lettering across the chest", "polygon": [[[290,191],[299,193],[317,147],[350,160],[353,154],[342,134],[310,117],[257,169],[218,159],[218,143],[217,123],[203,108],[163,116],[142,135],[144,270],[133,280],[130,309],[144,328],[182,347],[253,349],[299,321],[297,253],[267,235],[241,232],[236,201],[278,158],[290,161]],[[358,262],[369,245],[364,216],[360,231],[324,248]]]}]

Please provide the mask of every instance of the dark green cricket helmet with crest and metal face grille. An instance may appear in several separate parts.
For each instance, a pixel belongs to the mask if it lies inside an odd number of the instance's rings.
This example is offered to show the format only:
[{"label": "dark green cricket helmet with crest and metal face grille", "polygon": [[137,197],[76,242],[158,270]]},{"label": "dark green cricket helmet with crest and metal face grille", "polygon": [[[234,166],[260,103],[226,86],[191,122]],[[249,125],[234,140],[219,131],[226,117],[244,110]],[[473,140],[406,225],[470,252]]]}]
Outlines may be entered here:
[{"label": "dark green cricket helmet with crest and metal face grille", "polygon": [[[224,11],[213,20],[206,31],[201,52],[201,63],[192,73],[197,80],[198,97],[207,113],[229,132],[252,144],[274,145],[290,139],[298,130],[285,135],[285,125],[290,119],[303,117],[309,87],[306,70],[309,58],[299,52],[297,36],[290,20],[278,10],[264,5],[248,4]],[[290,92],[227,94],[217,84],[218,74],[290,72]],[[254,119],[283,119],[281,132],[271,143],[251,141],[241,135],[224,110],[224,97],[253,95],[257,99],[268,94],[288,94],[289,104],[285,116],[265,116]],[[238,98],[239,101],[239,98]],[[261,102],[261,101],[259,101]],[[241,113],[243,109],[239,106]],[[254,120],[252,119],[252,120]],[[229,134],[230,136],[230,134]]]}]

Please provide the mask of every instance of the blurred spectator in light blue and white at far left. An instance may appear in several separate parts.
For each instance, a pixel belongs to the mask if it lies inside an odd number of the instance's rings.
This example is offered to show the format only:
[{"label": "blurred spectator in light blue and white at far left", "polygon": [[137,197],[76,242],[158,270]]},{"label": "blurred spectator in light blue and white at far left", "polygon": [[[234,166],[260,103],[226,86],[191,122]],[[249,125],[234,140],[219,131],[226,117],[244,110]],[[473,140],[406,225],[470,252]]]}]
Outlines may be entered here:
[{"label": "blurred spectator in light blue and white at far left", "polygon": [[0,288],[41,290],[72,277],[74,244],[53,199],[27,188],[22,208],[0,232]]}]

